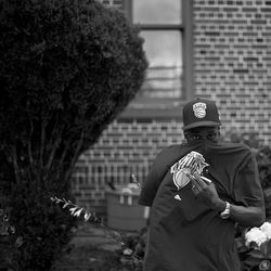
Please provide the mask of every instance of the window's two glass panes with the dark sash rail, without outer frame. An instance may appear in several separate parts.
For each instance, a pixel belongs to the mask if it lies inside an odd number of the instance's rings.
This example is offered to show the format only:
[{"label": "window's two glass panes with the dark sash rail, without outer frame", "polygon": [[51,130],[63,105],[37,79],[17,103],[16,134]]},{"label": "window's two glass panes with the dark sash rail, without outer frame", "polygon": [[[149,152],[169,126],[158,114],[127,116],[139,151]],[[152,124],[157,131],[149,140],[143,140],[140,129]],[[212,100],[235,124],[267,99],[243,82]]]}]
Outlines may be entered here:
[{"label": "window's two glass panes with the dark sash rail, without outer frame", "polygon": [[182,78],[182,24],[179,0],[133,0],[132,23],[141,29],[150,62],[141,94],[180,98]]}]

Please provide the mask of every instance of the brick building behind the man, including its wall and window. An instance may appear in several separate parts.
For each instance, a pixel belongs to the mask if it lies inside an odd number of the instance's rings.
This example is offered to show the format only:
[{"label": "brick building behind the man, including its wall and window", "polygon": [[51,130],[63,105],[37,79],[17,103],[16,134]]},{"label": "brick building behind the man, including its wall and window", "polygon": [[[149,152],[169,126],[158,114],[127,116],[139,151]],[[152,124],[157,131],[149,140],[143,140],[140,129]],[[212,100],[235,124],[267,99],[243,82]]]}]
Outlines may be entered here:
[{"label": "brick building behind the man, including its wall and window", "polygon": [[181,142],[181,108],[217,102],[222,136],[256,133],[271,143],[271,0],[104,0],[145,39],[150,62],[134,101],[81,155],[77,202],[105,210],[105,182],[141,181],[165,146]]}]

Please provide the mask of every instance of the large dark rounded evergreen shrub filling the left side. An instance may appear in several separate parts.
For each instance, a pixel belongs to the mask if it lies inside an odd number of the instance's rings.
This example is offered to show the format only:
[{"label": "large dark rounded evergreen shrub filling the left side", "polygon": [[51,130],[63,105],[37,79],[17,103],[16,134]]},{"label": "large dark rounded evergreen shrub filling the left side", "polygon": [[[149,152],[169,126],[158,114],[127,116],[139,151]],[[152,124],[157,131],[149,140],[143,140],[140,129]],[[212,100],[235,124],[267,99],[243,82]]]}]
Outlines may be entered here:
[{"label": "large dark rounded evergreen shrub filling the left side", "polygon": [[78,156],[133,99],[147,62],[137,29],[94,0],[3,0],[0,33],[0,205],[14,268],[48,271],[75,225],[50,196],[72,198]]}]

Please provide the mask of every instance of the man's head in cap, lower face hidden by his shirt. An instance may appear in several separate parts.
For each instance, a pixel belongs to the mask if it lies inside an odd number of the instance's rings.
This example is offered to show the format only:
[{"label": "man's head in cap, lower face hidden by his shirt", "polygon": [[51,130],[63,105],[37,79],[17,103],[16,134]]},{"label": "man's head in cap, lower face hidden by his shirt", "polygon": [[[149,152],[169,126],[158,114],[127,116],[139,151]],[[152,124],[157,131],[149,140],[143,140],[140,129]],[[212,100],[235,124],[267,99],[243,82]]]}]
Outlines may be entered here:
[{"label": "man's head in cap, lower face hidden by his shirt", "polygon": [[185,139],[217,141],[220,136],[220,119],[216,103],[197,98],[186,103],[182,111]]}]

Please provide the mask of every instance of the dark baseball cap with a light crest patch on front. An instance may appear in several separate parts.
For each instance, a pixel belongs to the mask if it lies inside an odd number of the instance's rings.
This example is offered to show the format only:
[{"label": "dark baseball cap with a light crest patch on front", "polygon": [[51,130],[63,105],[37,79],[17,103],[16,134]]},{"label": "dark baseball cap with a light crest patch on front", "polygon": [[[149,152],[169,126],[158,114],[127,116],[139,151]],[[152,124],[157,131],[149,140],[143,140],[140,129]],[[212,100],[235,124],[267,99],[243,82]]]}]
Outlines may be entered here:
[{"label": "dark baseball cap with a light crest patch on front", "polygon": [[217,105],[214,101],[196,98],[182,108],[183,130],[196,127],[220,126]]}]

